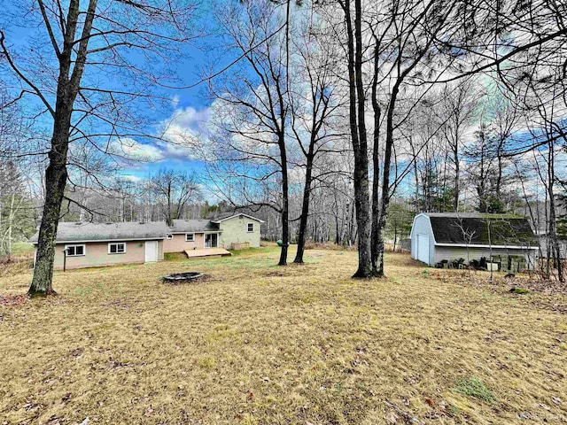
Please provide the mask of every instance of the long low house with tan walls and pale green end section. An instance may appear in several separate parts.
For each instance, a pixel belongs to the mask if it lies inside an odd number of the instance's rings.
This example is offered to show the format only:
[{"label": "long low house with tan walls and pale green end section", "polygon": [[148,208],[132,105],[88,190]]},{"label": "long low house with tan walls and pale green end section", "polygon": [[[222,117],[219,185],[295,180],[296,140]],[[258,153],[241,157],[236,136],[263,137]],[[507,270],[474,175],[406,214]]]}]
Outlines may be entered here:
[{"label": "long low house with tan walls and pale green end section", "polygon": [[[235,244],[259,247],[262,220],[229,213],[213,220],[90,223],[60,222],[55,246],[55,269],[100,267],[160,261],[166,252],[206,256],[211,248]],[[39,232],[29,240],[37,244]],[[209,250],[208,252],[213,252]],[[197,255],[196,255],[197,256]]]}]

